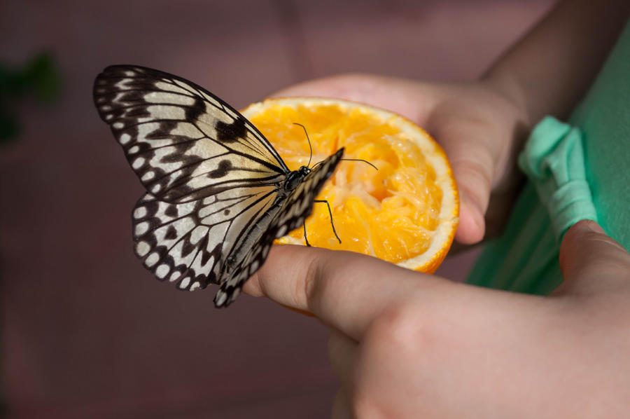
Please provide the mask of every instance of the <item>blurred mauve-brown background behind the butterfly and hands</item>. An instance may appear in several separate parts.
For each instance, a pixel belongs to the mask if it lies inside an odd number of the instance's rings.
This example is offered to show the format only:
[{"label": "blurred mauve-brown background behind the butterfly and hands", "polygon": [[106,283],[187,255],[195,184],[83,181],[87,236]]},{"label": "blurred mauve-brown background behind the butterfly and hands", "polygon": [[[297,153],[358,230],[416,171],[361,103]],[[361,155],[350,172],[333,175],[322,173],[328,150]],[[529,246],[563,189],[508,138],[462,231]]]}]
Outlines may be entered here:
[{"label": "blurred mauve-brown background behind the butterfly and hands", "polygon": [[[142,188],[92,102],[109,64],[242,108],[347,71],[467,80],[552,0],[3,1],[0,399],[8,418],[325,418],[325,328],[160,284],[132,252]],[[447,259],[461,280],[476,252]]]}]

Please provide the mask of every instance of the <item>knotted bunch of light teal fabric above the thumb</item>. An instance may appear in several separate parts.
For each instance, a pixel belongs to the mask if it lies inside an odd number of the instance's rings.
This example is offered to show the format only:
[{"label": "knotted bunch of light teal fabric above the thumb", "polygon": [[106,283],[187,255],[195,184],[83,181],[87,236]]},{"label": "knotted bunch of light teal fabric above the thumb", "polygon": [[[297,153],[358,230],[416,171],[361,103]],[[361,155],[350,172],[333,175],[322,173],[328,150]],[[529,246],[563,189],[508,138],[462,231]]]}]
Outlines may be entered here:
[{"label": "knotted bunch of light teal fabric above the thumb", "polygon": [[577,221],[597,221],[582,144],[579,128],[547,116],[533,129],[519,156],[519,167],[547,209],[558,244]]}]

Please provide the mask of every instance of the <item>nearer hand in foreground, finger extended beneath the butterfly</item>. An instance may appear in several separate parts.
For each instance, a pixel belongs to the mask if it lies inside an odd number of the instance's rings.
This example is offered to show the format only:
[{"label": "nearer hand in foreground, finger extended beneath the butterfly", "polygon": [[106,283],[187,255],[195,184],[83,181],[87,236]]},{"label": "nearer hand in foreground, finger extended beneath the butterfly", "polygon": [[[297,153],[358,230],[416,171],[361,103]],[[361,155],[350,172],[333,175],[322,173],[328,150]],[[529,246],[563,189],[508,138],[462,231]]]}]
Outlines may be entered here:
[{"label": "nearer hand in foreground, finger extended beneath the butterfly", "polygon": [[565,283],[540,297],[276,246],[245,290],[330,327],[334,418],[625,417],[630,255],[581,221],[560,260]]}]

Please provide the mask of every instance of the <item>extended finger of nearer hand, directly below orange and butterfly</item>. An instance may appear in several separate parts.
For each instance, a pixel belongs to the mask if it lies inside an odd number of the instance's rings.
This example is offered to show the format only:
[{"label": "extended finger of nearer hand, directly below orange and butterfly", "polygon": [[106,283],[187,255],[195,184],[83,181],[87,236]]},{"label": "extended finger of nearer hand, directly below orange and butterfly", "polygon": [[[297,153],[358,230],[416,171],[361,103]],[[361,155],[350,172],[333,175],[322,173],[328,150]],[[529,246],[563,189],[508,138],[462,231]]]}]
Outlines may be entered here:
[{"label": "extended finger of nearer hand, directly below orange and butterfly", "polygon": [[414,287],[442,282],[370,256],[314,247],[272,247],[244,291],[312,312],[330,327],[360,340],[372,319]]}]

